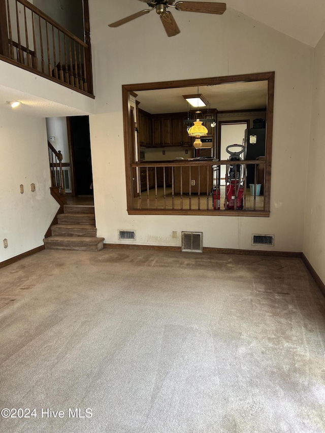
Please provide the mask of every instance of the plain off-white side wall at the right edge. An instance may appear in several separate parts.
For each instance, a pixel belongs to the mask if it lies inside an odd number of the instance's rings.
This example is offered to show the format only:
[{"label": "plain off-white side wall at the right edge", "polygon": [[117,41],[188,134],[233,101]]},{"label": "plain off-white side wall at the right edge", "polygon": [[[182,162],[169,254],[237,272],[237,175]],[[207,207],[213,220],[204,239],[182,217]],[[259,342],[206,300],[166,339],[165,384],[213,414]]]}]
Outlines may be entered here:
[{"label": "plain off-white side wall at the right edge", "polygon": [[[325,283],[325,35],[315,48],[303,252]],[[305,169],[306,169],[305,164]]]}]

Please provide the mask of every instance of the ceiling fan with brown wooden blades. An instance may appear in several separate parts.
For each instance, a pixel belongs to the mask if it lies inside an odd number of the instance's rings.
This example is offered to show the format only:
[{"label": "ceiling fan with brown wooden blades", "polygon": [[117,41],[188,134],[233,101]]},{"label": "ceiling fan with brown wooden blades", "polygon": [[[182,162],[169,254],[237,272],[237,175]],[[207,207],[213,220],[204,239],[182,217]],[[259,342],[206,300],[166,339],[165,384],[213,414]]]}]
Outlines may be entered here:
[{"label": "ceiling fan with brown wooden blades", "polygon": [[149,12],[156,10],[156,13],[160,15],[161,22],[166,30],[168,36],[175,36],[180,32],[178,25],[173,15],[167,10],[168,8],[175,8],[177,11],[186,12],[201,12],[204,14],[217,14],[221,15],[226,10],[225,3],[214,3],[214,2],[175,2],[175,0],[139,0],[139,2],[146,3],[151,9],[144,9],[143,11],[137,12],[128,17],[122,18],[121,20],[108,24],[109,27],[119,27],[126,22],[132,21],[142,15],[148,14]]}]

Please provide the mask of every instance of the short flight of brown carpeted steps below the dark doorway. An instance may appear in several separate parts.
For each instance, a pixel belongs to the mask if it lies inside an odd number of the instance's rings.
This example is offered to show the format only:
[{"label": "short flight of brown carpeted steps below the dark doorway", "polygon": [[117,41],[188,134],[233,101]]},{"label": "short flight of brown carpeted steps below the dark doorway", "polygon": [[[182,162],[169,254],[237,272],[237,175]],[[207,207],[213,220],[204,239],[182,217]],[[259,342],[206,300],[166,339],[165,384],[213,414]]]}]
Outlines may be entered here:
[{"label": "short flight of brown carpeted steps below the dark doorway", "polygon": [[51,226],[52,236],[44,239],[45,249],[100,251],[105,238],[96,237],[93,206],[64,205],[57,215],[58,224]]}]

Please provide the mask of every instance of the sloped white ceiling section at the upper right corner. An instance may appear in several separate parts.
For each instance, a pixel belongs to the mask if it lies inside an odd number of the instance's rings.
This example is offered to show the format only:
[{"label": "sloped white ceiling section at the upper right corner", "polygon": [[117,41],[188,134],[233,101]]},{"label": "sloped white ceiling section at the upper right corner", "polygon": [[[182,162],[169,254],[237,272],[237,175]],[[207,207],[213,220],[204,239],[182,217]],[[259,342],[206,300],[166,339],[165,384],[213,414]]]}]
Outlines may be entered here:
[{"label": "sloped white ceiling section at the upper right corner", "polygon": [[224,1],[227,8],[236,9],[311,47],[317,45],[325,31],[324,0]]}]

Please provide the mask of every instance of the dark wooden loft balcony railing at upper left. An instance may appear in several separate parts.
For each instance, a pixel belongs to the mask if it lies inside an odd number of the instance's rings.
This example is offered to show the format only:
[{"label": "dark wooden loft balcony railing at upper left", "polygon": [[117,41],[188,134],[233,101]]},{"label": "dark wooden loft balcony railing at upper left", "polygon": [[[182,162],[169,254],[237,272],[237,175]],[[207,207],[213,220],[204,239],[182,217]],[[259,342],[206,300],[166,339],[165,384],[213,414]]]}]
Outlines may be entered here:
[{"label": "dark wooden loft balcony railing at upper left", "polygon": [[92,95],[88,0],[85,42],[27,0],[0,0],[0,59]]}]

